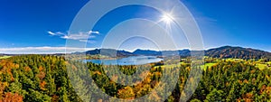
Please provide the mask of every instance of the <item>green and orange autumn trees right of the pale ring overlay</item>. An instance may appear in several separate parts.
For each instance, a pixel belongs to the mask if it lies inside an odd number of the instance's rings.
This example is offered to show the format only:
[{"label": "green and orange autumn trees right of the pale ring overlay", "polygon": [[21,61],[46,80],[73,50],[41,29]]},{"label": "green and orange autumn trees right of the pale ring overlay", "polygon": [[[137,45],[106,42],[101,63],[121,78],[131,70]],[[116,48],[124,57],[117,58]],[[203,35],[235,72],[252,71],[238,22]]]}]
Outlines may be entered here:
[{"label": "green and orange autumn trees right of the pale ring overlay", "polygon": [[259,70],[253,62],[220,60],[203,72],[192,100],[271,101],[271,70]]}]

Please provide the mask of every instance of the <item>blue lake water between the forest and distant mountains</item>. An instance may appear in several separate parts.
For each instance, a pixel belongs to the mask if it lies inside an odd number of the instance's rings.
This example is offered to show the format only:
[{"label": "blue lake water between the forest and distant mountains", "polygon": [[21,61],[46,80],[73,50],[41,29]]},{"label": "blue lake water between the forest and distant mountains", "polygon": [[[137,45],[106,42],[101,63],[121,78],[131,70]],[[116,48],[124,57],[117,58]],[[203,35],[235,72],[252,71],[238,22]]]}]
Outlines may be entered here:
[{"label": "blue lake water between the forest and distant mountains", "polygon": [[157,58],[155,56],[131,56],[127,58],[122,58],[118,60],[85,60],[104,65],[143,65],[153,62],[159,62],[163,59]]}]

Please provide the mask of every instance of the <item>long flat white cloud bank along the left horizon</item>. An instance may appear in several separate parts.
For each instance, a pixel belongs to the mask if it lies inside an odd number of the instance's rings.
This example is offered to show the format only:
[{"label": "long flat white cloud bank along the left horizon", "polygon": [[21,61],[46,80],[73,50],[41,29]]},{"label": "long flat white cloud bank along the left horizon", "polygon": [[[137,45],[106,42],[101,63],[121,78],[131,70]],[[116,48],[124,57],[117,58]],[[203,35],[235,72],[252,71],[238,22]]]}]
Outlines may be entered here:
[{"label": "long flat white cloud bank along the left horizon", "polygon": [[0,53],[5,54],[53,54],[53,53],[71,53],[76,51],[89,51],[93,48],[72,48],[72,47],[21,47],[21,48],[4,48]]}]

